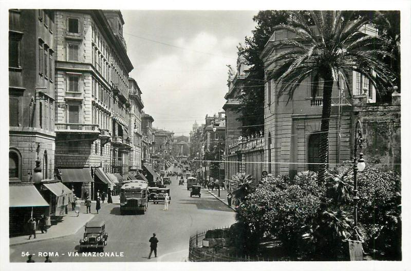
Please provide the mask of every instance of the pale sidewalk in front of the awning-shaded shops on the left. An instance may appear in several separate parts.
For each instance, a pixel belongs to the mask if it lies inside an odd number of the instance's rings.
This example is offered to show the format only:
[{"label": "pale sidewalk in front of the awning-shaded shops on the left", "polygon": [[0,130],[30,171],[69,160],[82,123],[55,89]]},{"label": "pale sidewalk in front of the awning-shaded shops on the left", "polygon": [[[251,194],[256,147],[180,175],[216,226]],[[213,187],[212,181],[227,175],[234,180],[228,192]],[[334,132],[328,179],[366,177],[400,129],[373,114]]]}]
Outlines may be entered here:
[{"label": "pale sidewalk in front of the awning-shaded shops on the left", "polygon": [[76,212],[69,210],[68,215],[63,217],[63,221],[51,225],[47,229],[47,233],[42,234],[41,230],[36,230],[36,239],[33,239],[33,236],[29,239],[28,235],[11,237],[9,238],[10,246],[52,240],[76,234],[88,221],[94,218],[94,215],[84,214],[83,211],[85,211],[85,207],[80,210],[80,215],[76,217]]}]

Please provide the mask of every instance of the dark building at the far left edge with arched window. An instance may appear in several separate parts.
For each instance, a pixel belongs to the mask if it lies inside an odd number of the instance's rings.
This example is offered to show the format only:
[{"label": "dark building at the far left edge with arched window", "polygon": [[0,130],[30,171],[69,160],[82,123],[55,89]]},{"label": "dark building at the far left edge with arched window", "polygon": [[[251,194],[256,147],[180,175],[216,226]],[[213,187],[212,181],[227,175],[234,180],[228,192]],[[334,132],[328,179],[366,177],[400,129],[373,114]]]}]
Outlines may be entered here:
[{"label": "dark building at the far left edge with arched window", "polygon": [[9,10],[9,182],[29,182],[35,160],[54,179],[54,17]]}]

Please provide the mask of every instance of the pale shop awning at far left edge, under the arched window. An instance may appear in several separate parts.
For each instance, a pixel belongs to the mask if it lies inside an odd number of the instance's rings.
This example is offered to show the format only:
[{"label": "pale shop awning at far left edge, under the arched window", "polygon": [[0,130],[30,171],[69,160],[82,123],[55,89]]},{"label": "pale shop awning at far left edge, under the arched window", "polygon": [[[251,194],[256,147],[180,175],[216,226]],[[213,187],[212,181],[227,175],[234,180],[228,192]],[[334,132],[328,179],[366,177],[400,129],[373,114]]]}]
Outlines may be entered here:
[{"label": "pale shop awning at far left edge, under the arched window", "polygon": [[9,184],[10,207],[49,206],[37,188],[31,183]]}]

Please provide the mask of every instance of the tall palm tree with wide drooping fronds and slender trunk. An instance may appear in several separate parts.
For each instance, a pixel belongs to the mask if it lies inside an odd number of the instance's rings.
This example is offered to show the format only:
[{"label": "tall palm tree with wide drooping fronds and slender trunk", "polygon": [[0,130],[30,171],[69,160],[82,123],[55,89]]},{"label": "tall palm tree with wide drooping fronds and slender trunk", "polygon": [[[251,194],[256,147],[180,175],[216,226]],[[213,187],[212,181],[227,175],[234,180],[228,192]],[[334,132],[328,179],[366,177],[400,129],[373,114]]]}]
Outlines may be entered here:
[{"label": "tall palm tree with wide drooping fronds and slender trunk", "polygon": [[[328,164],[328,130],[331,114],[332,87],[347,83],[348,71],[364,75],[378,90],[383,83],[391,82],[393,73],[382,61],[382,56],[392,56],[384,50],[385,40],[361,32],[369,23],[367,17],[354,18],[354,12],[310,11],[293,12],[285,29],[297,35],[295,39],[274,41],[274,46],[291,46],[290,50],[276,54],[268,65],[267,79],[278,85],[277,95],[289,95],[289,101],[297,87],[308,76],[320,76],[324,81],[323,109],[320,137],[319,182],[324,183]],[[377,74],[374,74],[375,72]],[[315,95],[315,93],[313,94]]]}]

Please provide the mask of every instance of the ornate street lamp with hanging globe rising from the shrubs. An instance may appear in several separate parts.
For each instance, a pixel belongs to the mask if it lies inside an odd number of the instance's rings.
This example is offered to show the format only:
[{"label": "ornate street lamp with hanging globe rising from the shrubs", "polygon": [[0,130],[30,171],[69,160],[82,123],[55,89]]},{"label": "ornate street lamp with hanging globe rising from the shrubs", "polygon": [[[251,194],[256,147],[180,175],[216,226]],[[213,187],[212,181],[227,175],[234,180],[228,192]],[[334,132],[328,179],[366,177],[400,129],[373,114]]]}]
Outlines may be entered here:
[{"label": "ornate street lamp with hanging globe rising from the shrubs", "polygon": [[[358,136],[358,137],[357,137]],[[353,173],[354,173],[354,196],[352,200],[354,201],[354,232],[353,232],[353,240],[350,240],[350,250],[355,250],[356,253],[352,253],[352,255],[360,254],[360,257],[352,257],[352,260],[362,260],[362,239],[360,238],[360,234],[358,233],[358,201],[360,197],[358,196],[358,185],[357,185],[357,172],[362,172],[365,169],[365,161],[364,161],[364,153],[363,150],[363,137],[362,137],[362,125],[360,120],[356,123],[356,130],[354,133],[354,161],[353,161]],[[357,146],[359,147],[360,159],[357,161]],[[356,241],[356,242],[352,242]],[[351,253],[350,253],[351,255]]]}]

